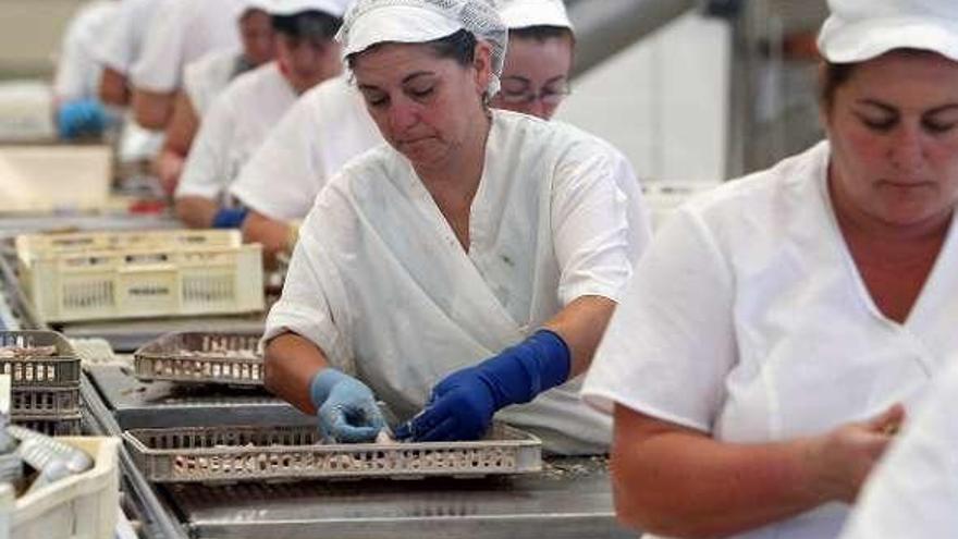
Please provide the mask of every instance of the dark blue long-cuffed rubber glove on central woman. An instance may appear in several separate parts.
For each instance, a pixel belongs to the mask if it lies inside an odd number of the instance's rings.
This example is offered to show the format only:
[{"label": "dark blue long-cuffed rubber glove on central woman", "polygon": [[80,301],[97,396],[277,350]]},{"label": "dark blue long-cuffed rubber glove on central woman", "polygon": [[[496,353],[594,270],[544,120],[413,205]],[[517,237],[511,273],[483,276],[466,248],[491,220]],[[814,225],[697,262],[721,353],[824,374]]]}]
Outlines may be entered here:
[{"label": "dark blue long-cuffed rubber glove on central woman", "polygon": [[445,377],[432,389],[426,409],[398,427],[395,437],[423,442],[479,439],[498,409],[527,403],[565,382],[570,368],[565,341],[539,330],[498,356]]}]

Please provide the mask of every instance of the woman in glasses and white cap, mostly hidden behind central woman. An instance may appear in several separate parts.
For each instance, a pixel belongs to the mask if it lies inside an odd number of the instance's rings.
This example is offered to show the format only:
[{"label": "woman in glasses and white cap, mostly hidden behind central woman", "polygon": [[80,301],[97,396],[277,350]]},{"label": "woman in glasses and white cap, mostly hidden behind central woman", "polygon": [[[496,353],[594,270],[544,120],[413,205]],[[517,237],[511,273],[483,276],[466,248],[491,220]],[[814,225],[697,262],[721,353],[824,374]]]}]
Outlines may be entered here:
[{"label": "woman in glasses and white cap, mostly hidden behind central woman", "polygon": [[[561,0],[500,0],[496,9],[508,27],[509,45],[503,89],[491,105],[549,120],[568,94],[575,38],[565,5]],[[519,54],[514,57],[514,51]],[[244,238],[262,244],[267,253],[291,250],[299,221],[327,181],[349,159],[379,144],[382,137],[347,77],[307,93],[230,187],[250,208]],[[629,231],[636,243],[644,244],[649,225],[635,172],[622,152],[605,147],[616,163],[619,188],[632,201]]]}]

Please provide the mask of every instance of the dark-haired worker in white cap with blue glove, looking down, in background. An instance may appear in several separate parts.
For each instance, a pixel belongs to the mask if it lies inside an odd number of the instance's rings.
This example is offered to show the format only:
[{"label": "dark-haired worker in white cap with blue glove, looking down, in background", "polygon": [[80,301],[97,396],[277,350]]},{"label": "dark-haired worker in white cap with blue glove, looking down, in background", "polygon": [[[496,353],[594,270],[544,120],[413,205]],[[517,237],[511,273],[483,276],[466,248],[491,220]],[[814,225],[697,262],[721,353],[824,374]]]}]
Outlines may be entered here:
[{"label": "dark-haired worker in white cap with blue glove, looking down, in background", "polygon": [[277,61],[241,77],[204,118],[183,177],[176,215],[193,228],[236,228],[246,210],[226,188],[266,134],[312,86],[342,72],[333,37],[348,0],[273,0]]}]

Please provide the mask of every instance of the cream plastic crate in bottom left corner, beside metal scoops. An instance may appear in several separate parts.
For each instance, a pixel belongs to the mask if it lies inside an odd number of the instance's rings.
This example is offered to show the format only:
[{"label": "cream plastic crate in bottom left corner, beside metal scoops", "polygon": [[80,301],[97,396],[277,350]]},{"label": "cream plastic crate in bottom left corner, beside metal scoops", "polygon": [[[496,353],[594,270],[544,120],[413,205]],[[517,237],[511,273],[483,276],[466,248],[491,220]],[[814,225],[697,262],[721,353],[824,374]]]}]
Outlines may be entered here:
[{"label": "cream plastic crate in bottom left corner, beside metal scoops", "polygon": [[16,500],[11,537],[109,539],[116,527],[120,476],[115,438],[65,438],[94,457],[94,468]]}]

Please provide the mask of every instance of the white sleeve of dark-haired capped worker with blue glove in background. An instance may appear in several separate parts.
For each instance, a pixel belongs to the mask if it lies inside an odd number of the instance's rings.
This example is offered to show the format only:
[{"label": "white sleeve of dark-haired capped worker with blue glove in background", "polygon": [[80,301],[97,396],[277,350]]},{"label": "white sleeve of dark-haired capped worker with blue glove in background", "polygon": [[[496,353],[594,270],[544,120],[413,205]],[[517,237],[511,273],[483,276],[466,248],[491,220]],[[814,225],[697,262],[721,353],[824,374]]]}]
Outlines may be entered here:
[{"label": "white sleeve of dark-haired capped worker with blue glove in background", "polygon": [[183,176],[176,185],[177,198],[199,196],[219,200],[232,181],[230,150],[235,134],[235,114],[229,95],[213,101],[209,113],[199,124],[199,132],[189,148]]}]

